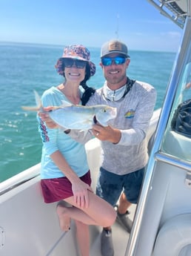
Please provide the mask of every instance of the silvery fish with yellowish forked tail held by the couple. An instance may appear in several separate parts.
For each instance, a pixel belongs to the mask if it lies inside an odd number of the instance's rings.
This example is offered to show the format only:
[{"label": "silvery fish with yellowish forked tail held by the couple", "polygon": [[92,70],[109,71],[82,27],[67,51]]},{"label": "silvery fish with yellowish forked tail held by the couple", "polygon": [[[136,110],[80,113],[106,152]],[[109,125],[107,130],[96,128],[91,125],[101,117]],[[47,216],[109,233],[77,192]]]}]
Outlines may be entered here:
[{"label": "silvery fish with yellowish forked tail held by the couple", "polygon": [[44,111],[41,98],[36,91],[36,107],[21,106],[24,111],[41,111],[49,114],[50,118],[61,128],[89,130],[97,122],[106,127],[110,119],[117,116],[117,108],[109,105],[73,105],[70,102],[62,101],[60,106],[54,106],[52,111]]}]

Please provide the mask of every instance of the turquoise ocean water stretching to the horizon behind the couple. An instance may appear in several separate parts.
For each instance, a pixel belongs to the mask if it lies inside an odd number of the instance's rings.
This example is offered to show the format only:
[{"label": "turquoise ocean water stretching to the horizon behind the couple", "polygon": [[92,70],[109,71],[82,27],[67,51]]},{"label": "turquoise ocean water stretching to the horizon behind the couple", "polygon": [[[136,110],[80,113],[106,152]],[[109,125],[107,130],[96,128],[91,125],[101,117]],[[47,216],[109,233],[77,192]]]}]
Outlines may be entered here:
[{"label": "turquoise ocean water stretching to the horizon behind the couple", "polygon": [[[33,90],[41,95],[62,82],[54,65],[62,46],[0,42],[0,182],[36,165],[41,160],[41,138],[36,113],[21,105],[35,105]],[[104,82],[99,66],[100,49],[89,47],[96,75],[88,85],[100,88]],[[161,107],[170,79],[175,53],[130,50],[127,76],[153,85],[158,93],[155,109]]]}]

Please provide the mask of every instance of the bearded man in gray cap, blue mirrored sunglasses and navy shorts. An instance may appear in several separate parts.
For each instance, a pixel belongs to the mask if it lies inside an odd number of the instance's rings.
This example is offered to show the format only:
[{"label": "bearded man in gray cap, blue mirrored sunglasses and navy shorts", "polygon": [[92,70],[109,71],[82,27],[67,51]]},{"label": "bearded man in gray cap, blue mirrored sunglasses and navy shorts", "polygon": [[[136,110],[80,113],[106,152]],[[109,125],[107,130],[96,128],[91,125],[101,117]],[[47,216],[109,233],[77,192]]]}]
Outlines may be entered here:
[{"label": "bearded man in gray cap, blue mirrored sunglasses and navy shorts", "polygon": [[[117,108],[117,116],[107,127],[98,123],[93,125],[93,135],[101,140],[101,168],[96,194],[113,206],[118,202],[118,222],[130,232],[132,221],[128,209],[132,203],[138,202],[147,165],[146,134],[156,92],[153,86],[127,77],[130,56],[123,42],[106,42],[101,47],[100,65],[106,81],[90,97],[87,105],[113,106]],[[70,131],[69,134],[81,140],[81,133]],[[87,140],[89,135],[86,134]],[[101,232],[101,255],[114,255],[111,227],[105,227]]]}]

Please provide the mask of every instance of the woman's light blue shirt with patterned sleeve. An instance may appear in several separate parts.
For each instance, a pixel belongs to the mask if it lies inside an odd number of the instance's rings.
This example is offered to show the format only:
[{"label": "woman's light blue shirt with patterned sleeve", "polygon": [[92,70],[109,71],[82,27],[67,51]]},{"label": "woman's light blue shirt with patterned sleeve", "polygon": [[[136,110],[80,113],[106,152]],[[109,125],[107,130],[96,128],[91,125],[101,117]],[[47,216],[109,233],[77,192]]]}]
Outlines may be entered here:
[{"label": "woman's light blue shirt with patterned sleeve", "polygon": [[[59,106],[61,105],[61,100],[69,102],[66,96],[64,96],[64,94],[56,87],[44,91],[41,97],[41,102],[44,107],[50,105]],[[60,151],[61,154],[63,154],[65,160],[73,171],[76,172],[78,177],[82,177],[86,174],[89,167],[87,165],[87,155],[84,145],[76,142],[76,140],[73,140],[67,134],[64,134],[64,131],[61,131],[61,129],[47,128],[45,122],[39,117],[38,122],[38,131],[41,133],[43,142],[41,154],[41,179],[64,177],[63,172],[59,170],[50,157],[55,151]]]}]

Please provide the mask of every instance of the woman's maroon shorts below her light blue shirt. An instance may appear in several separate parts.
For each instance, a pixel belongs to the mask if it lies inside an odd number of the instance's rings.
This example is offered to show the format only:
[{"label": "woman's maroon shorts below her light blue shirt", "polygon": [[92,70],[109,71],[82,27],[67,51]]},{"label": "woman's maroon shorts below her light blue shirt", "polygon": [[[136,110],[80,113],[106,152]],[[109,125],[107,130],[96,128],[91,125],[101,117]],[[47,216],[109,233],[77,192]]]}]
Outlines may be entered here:
[{"label": "woman's maroon shorts below her light blue shirt", "polygon": [[[80,179],[90,186],[90,171]],[[41,180],[41,190],[45,203],[54,203],[73,196],[72,185],[67,177]]]}]

